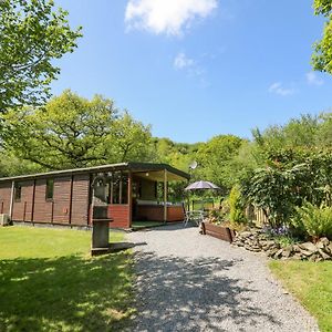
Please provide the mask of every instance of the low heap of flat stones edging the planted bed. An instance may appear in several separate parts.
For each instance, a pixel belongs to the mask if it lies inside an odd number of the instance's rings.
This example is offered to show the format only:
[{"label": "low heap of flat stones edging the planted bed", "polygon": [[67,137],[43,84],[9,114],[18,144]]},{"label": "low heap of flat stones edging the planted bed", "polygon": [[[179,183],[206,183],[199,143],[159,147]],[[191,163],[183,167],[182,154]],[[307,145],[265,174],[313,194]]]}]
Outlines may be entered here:
[{"label": "low heap of flat stones edging the planted bed", "polygon": [[263,251],[274,259],[292,258],[310,261],[332,259],[332,241],[328,238],[321,238],[315,245],[304,242],[281,248],[280,243],[267,237],[260,229],[252,229],[238,232],[232,245],[255,252]]}]

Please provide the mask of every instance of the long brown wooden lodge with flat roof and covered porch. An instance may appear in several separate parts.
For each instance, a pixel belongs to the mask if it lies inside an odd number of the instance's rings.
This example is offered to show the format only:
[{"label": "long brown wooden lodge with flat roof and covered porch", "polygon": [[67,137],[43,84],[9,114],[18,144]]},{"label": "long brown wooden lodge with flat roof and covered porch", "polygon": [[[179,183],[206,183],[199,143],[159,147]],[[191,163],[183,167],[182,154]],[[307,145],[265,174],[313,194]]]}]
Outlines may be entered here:
[{"label": "long brown wooden lodge with flat roof and covered porch", "polygon": [[[93,187],[104,179],[105,197]],[[91,226],[95,197],[107,206],[110,225],[131,228],[133,220],[178,221],[181,204],[167,201],[168,181],[189,175],[166,164],[122,163],[0,178],[0,212],[13,221]]]}]

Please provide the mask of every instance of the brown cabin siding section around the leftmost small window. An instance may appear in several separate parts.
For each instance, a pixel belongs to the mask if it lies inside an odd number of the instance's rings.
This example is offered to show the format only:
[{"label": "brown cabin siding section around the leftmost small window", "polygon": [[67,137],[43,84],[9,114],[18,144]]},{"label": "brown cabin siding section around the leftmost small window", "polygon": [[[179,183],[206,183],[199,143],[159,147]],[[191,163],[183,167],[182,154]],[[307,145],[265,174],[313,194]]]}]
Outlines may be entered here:
[{"label": "brown cabin siding section around the leftmost small window", "polygon": [[13,200],[12,219],[18,221],[31,221],[33,180],[19,181],[21,186],[21,199]]}]

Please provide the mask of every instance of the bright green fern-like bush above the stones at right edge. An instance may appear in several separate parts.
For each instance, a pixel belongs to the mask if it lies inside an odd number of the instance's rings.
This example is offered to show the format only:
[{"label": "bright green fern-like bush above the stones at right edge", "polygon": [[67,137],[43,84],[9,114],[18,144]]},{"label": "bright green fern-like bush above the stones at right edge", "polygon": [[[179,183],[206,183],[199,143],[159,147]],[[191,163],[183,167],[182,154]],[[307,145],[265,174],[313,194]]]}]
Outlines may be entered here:
[{"label": "bright green fern-like bush above the stones at right edge", "polygon": [[299,232],[313,238],[328,237],[332,240],[332,207],[324,205],[318,207],[305,203],[297,208],[291,222]]}]

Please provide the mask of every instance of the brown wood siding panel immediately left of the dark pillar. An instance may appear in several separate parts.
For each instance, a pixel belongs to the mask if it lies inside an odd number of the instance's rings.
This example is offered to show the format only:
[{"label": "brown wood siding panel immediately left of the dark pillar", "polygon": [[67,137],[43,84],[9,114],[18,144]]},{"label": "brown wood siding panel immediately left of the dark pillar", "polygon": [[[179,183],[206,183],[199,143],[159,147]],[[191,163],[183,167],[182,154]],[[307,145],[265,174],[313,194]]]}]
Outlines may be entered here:
[{"label": "brown wood siding panel immediately left of the dark pillar", "polygon": [[90,175],[75,175],[72,195],[72,224],[87,225]]}]

